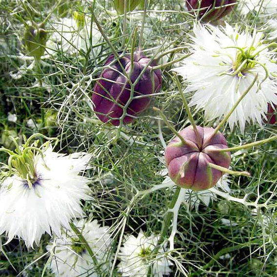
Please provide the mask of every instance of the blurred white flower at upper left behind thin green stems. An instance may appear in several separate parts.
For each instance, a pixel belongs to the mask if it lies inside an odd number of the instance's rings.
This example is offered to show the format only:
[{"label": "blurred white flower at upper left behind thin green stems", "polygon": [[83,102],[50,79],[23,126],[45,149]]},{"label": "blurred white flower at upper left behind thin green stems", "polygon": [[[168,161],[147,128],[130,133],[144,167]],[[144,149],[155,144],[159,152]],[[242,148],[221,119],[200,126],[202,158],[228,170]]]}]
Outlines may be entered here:
[{"label": "blurred white flower at upper left behind thin green stems", "polygon": [[100,47],[95,45],[101,42],[101,34],[94,23],[91,28],[90,17],[84,17],[83,20],[79,23],[74,18],[64,18],[54,22],[52,25],[54,32],[46,43],[46,52],[52,55],[57,51],[77,54],[80,50],[86,53],[92,47],[92,53],[97,56]]}]

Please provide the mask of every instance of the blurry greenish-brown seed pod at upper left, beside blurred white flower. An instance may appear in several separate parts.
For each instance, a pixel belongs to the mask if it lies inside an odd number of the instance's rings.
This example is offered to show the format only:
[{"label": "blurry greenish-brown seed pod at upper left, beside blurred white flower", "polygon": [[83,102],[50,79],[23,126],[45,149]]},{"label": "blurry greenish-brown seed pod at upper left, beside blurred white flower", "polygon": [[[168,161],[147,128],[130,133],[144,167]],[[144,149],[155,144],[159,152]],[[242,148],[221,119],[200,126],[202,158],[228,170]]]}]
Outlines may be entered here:
[{"label": "blurry greenish-brown seed pod at upper left, beside blurred white flower", "polygon": [[28,51],[28,55],[35,59],[40,59],[45,50],[47,33],[43,28],[44,23],[36,24],[33,22],[24,31],[23,44]]}]

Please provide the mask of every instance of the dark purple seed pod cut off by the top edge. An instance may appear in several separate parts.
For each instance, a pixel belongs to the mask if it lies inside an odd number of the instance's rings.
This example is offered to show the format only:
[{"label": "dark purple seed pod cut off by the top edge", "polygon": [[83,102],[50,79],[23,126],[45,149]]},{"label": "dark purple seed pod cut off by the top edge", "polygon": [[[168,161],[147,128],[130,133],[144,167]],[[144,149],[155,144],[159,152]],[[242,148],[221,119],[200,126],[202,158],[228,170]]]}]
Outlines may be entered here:
[{"label": "dark purple seed pod cut off by the top edge", "polygon": [[[186,0],[188,10],[200,9],[198,18],[203,21],[215,21],[230,13],[236,0]],[[219,7],[219,8],[218,8]]]}]

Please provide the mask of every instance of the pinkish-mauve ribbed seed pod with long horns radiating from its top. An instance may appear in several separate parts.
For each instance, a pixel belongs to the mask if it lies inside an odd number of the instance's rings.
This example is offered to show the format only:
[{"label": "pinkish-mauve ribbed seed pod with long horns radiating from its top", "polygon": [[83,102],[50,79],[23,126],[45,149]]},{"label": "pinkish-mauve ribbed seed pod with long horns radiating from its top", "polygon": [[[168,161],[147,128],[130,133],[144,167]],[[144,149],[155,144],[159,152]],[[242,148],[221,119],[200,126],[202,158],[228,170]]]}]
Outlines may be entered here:
[{"label": "pinkish-mauve ribbed seed pod with long horns radiating from its top", "polygon": [[212,151],[228,148],[221,133],[214,135],[213,128],[199,126],[197,131],[198,138],[192,126],[180,131],[187,143],[183,144],[178,137],[173,139],[165,149],[165,162],[170,178],[179,187],[200,191],[213,187],[223,175],[208,163],[229,168],[231,154]]}]

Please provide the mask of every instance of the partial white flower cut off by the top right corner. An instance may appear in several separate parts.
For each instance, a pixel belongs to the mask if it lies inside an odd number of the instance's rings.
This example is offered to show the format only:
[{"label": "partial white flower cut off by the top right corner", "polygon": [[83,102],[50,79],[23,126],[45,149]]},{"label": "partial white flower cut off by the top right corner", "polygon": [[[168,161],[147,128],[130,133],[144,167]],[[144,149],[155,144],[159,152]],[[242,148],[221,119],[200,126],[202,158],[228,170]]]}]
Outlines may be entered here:
[{"label": "partial white flower cut off by the top right corner", "polygon": [[244,0],[239,6],[240,12],[244,15],[249,12],[256,12],[260,15],[271,15],[277,12],[276,0]]}]

